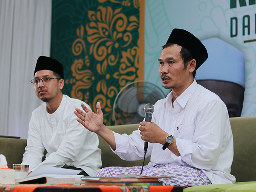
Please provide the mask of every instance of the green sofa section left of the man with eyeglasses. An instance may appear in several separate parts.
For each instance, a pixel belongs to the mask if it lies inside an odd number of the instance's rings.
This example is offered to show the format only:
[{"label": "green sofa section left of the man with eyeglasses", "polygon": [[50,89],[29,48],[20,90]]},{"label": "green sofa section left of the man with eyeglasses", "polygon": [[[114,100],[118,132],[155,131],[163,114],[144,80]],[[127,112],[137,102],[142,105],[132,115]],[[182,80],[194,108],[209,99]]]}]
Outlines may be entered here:
[{"label": "green sofa section left of the man with eyeglasses", "polygon": [[12,169],[12,164],[21,164],[27,139],[0,137],[0,154],[6,157],[8,168]]}]

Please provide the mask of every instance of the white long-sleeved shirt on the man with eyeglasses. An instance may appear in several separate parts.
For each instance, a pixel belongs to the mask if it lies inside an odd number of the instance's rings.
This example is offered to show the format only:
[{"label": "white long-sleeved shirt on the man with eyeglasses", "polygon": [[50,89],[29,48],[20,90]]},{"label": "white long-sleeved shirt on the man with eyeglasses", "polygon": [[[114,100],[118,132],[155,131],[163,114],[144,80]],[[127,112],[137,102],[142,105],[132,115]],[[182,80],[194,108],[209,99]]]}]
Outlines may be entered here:
[{"label": "white long-sleeved shirt on the man with eyeglasses", "polygon": [[[96,176],[101,162],[97,134],[88,131],[77,120],[75,107],[82,109],[83,101],[63,95],[60,106],[53,114],[46,110],[46,103],[32,112],[29,136],[23,154],[22,164],[29,165],[29,171],[38,165],[62,167],[65,164],[82,168],[90,176]],[[45,161],[42,162],[44,150]]]}]

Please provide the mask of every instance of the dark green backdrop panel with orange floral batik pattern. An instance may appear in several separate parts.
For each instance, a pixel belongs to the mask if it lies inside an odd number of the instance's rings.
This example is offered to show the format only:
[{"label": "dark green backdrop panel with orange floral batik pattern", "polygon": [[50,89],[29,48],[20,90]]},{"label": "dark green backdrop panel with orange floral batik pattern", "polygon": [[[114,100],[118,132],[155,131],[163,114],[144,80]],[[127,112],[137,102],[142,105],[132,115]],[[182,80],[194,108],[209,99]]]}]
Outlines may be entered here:
[{"label": "dark green backdrop panel with orange floral batik pattern", "polygon": [[117,93],[144,80],[144,0],[53,0],[50,55],[64,66],[63,94],[94,112],[99,101],[114,125]]}]

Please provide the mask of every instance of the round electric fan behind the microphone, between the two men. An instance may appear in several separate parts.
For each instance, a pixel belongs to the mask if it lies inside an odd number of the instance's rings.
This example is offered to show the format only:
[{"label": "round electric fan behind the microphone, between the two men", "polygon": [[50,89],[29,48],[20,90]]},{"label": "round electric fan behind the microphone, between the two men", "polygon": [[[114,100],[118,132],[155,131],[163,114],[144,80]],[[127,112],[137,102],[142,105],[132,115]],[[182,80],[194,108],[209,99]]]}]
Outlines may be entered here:
[{"label": "round electric fan behind the microphone, between the two men", "polygon": [[117,94],[113,105],[116,124],[135,124],[145,118],[144,106],[165,98],[165,93],[148,81],[131,82]]}]

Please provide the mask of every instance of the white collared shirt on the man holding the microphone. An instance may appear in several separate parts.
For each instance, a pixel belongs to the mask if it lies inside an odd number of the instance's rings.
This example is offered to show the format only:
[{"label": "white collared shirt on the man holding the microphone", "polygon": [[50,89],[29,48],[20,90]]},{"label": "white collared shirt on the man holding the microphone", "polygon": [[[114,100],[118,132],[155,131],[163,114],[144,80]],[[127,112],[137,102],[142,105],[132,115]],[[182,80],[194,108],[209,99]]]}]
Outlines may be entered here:
[{"label": "white collared shirt on the man holding the microphone", "polygon": [[[178,157],[159,143],[148,143],[151,165],[184,165],[201,169],[212,184],[232,184],[233,135],[226,105],[206,88],[193,83],[174,101],[172,92],[154,105],[152,122],[176,138]],[[116,150],[122,159],[143,159],[140,130],[131,135],[114,133]],[[126,141],[126,142],[124,142]],[[112,149],[113,151],[113,149]]]}]

